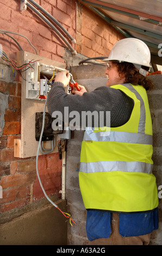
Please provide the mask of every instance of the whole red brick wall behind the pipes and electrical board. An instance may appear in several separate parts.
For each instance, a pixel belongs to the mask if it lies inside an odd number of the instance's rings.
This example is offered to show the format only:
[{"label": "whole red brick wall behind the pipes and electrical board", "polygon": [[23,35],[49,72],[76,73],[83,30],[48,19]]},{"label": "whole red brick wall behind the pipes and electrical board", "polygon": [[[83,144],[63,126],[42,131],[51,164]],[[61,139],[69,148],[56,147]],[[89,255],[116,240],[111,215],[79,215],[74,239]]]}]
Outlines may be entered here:
[{"label": "whole red brick wall behind the pipes and electrical board", "polygon": [[[87,57],[107,56],[113,44],[122,38],[90,10],[80,7],[80,4],[77,9],[75,0],[35,1],[63,24],[77,40],[76,46],[72,46]],[[20,2],[0,0],[0,28],[27,36],[40,56],[64,63],[63,42],[28,8],[21,12]],[[13,36],[24,51],[35,53],[26,39]],[[9,36],[0,34],[0,44],[8,57],[15,60],[15,53],[20,51],[15,42]],[[21,76],[17,75],[12,83],[2,82],[0,92],[9,95],[9,106],[4,115],[5,126],[0,138],[0,185],[3,187],[0,212],[5,212],[33,203],[43,197],[43,193],[36,177],[35,157],[14,157],[14,139],[21,138]],[[39,172],[47,194],[56,194],[60,198],[61,160],[58,153],[40,156]]]}]

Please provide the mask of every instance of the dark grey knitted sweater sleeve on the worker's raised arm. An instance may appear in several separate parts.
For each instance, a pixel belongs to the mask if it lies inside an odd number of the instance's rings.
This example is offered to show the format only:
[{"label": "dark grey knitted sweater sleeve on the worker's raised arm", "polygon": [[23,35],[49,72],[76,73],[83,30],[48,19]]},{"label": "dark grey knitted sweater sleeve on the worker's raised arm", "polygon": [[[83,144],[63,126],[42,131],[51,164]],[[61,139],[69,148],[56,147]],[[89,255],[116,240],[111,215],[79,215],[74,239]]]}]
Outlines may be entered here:
[{"label": "dark grey knitted sweater sleeve on the worker's raised arm", "polygon": [[[117,127],[125,124],[132,113],[134,101],[121,90],[102,86],[90,93],[82,96],[67,94],[63,83],[55,82],[47,97],[47,108],[49,114],[60,111],[63,114],[64,107],[68,107],[68,112],[77,111],[80,114],[80,124],[82,123],[82,111],[104,111],[104,122],[106,111],[110,112],[110,125]],[[69,118],[69,121],[71,119]],[[92,119],[92,127],[94,120]]]}]

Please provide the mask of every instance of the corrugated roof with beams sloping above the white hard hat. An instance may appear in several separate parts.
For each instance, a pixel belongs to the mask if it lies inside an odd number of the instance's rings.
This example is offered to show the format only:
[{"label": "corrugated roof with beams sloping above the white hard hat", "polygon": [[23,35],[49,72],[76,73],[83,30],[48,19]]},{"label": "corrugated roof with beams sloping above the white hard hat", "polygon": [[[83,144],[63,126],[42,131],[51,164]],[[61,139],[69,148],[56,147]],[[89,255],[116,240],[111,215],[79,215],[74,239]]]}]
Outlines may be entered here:
[{"label": "corrugated roof with beams sloping above the white hard hat", "polygon": [[[151,51],[152,62],[162,65],[161,0],[79,0],[126,37],[144,41]],[[160,45],[161,44],[161,45]]]}]

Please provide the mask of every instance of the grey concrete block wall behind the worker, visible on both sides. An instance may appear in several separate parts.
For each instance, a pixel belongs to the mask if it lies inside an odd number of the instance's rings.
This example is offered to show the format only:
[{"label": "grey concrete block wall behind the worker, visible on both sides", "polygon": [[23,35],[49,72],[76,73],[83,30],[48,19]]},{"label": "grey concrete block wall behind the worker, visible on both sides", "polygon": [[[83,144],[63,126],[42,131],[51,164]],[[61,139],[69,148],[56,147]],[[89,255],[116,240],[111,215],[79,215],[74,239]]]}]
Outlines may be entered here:
[{"label": "grey concrete block wall behind the worker, visible on both sides", "polygon": [[[90,92],[99,86],[104,86],[107,78],[104,77],[104,68],[95,65],[75,66],[72,69],[74,77],[79,84],[82,84]],[[84,77],[83,78],[83,74]],[[153,124],[153,174],[157,180],[159,196],[159,229],[154,230],[151,235],[150,245],[161,245],[162,239],[162,164],[161,164],[161,79],[162,75],[149,76],[154,82],[154,90],[147,92],[149,107]],[[66,170],[66,198],[68,209],[72,213],[76,225],[68,227],[67,241],[69,245],[89,245],[86,237],[86,210],[84,208],[82,195],[79,190],[78,168],[80,149],[83,139],[83,131],[73,131],[72,138],[67,144],[67,170]]]}]

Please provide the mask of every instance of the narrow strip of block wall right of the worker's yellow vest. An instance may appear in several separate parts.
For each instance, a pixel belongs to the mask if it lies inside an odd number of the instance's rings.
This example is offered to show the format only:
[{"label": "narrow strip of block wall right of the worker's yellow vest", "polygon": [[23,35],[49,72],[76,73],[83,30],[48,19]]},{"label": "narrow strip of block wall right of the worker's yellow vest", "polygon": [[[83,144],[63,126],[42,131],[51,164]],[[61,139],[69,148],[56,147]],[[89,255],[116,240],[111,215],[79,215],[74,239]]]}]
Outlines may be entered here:
[{"label": "narrow strip of block wall right of the worker's yellow vest", "polygon": [[148,101],[152,116],[153,125],[153,174],[157,179],[158,197],[159,197],[159,229],[153,231],[151,245],[162,244],[162,162],[161,162],[161,150],[162,150],[162,103],[161,103],[161,81],[162,75],[149,76],[154,83],[154,90],[148,92]]}]

